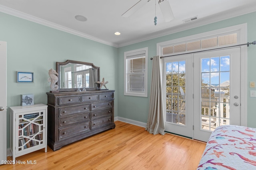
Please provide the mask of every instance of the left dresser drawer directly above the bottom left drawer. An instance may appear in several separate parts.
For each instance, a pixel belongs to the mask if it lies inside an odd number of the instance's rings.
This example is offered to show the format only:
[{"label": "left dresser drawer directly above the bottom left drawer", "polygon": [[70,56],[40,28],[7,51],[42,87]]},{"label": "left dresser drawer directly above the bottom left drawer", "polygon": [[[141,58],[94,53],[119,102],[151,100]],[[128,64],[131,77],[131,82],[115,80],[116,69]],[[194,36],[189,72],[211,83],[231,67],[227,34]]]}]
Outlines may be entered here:
[{"label": "left dresser drawer directly above the bottom left drawer", "polygon": [[70,125],[72,123],[86,121],[86,120],[90,120],[90,113],[61,118],[59,119],[59,127],[63,127],[66,125]]}]

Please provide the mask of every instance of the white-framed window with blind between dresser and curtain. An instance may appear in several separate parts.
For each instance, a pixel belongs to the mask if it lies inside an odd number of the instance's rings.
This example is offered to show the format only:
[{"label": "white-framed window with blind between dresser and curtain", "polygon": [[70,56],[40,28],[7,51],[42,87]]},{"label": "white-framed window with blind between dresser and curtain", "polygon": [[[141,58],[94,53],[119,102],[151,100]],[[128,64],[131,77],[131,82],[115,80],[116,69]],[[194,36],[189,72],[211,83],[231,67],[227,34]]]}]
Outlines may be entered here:
[{"label": "white-framed window with blind between dresser and curtain", "polygon": [[124,95],[148,97],[148,47],[124,52]]}]

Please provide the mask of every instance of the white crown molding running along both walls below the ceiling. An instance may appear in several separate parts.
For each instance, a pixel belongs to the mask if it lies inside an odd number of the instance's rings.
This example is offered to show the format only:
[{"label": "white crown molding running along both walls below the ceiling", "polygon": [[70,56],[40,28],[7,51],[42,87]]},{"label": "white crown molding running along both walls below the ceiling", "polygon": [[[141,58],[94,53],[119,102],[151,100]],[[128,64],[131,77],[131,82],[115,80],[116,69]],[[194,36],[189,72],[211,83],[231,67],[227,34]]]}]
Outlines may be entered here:
[{"label": "white crown molding running along both walls below the ceiling", "polygon": [[77,35],[77,36],[80,36],[80,37],[83,37],[83,38],[86,38],[86,39],[90,39],[92,41],[96,41],[96,42],[99,42],[99,43],[103,43],[103,44],[110,45],[112,47],[117,47],[118,48],[118,47],[124,47],[126,45],[131,45],[131,44],[134,44],[134,43],[140,43],[142,41],[147,41],[147,40],[150,40],[150,39],[162,37],[162,36],[165,36],[165,35],[170,35],[170,34],[173,34],[173,33],[180,32],[180,31],[185,31],[185,30],[188,30],[188,29],[192,29],[192,28],[195,28],[195,27],[202,26],[202,25],[207,25],[207,24],[214,23],[214,22],[217,22],[217,21],[226,20],[226,19],[233,18],[233,17],[236,17],[236,16],[248,14],[248,13],[251,13],[251,12],[255,12],[256,9],[254,9],[254,8],[255,8],[254,6],[249,6],[247,8],[236,9],[236,10],[232,10],[232,11],[225,11],[225,12],[216,14],[214,16],[208,16],[208,17],[202,18],[202,19],[200,19],[200,16],[199,16],[198,20],[191,21],[191,22],[188,22],[188,23],[184,23],[183,25],[178,25],[178,26],[171,27],[171,28],[168,28],[168,29],[164,29],[162,31],[158,31],[158,32],[155,32],[155,33],[150,33],[149,35],[145,35],[145,36],[143,36],[139,39],[126,41],[125,43],[119,43],[119,44],[111,43],[109,41],[105,41],[103,39],[93,37],[91,35],[76,31],[74,29],[64,27],[62,25],[58,25],[56,23],[52,23],[50,21],[43,20],[41,18],[31,16],[29,14],[26,14],[26,13],[8,8],[6,6],[0,5],[0,12],[4,12],[4,13],[10,14],[12,16],[16,16],[16,17],[19,17],[19,18],[22,18],[22,19],[25,19],[25,20],[29,20],[29,21],[32,21],[32,22],[35,22],[35,23],[39,23],[39,24],[42,24],[42,25],[45,25],[45,26],[48,26],[48,27],[52,27],[54,29],[58,29],[58,30],[61,30],[61,31],[64,31],[64,32],[67,32],[67,33],[71,33],[73,35]]}]

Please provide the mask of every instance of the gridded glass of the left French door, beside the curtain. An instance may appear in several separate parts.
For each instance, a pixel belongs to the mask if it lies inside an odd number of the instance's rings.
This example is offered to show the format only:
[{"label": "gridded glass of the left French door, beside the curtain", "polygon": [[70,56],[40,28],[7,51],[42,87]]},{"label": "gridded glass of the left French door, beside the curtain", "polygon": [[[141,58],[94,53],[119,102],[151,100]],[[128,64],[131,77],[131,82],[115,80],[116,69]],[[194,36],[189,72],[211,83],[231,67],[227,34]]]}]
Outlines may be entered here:
[{"label": "gridded glass of the left French door, beside the curtain", "polygon": [[185,125],[185,61],[166,63],[166,121]]}]

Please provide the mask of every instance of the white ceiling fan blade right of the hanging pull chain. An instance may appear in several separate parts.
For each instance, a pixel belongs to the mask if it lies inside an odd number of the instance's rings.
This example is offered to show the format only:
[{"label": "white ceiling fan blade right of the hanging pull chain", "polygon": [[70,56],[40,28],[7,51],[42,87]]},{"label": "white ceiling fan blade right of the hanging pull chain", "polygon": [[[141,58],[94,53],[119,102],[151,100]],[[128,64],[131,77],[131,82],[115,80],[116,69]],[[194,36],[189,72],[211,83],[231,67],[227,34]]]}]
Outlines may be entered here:
[{"label": "white ceiling fan blade right of the hanging pull chain", "polygon": [[159,0],[158,4],[159,4],[161,12],[164,16],[164,20],[166,22],[172,21],[174,19],[174,16],[172,13],[172,8],[171,8],[168,0]]}]

